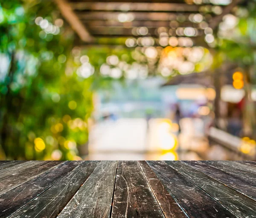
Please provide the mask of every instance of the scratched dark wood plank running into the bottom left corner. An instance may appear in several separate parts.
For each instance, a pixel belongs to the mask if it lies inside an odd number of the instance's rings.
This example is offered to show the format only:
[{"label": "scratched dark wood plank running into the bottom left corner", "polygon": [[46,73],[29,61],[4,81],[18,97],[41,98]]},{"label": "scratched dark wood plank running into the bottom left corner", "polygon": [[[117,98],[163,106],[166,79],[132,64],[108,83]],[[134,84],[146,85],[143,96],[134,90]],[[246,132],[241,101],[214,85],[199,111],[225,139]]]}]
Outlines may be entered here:
[{"label": "scratched dark wood plank running into the bottom left corner", "polygon": [[1,217],[9,217],[73,170],[79,161],[65,161],[38,177],[0,194]]}]

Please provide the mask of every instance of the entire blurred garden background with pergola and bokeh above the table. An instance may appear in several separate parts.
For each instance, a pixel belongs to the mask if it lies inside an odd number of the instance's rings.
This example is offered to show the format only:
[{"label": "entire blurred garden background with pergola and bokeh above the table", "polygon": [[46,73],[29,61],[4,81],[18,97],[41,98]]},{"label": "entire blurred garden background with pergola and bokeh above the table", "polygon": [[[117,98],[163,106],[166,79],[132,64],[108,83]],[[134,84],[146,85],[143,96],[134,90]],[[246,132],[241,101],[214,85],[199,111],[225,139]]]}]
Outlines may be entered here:
[{"label": "entire blurred garden background with pergola and bokeh above the table", "polygon": [[0,0],[0,160],[255,160],[255,0]]}]

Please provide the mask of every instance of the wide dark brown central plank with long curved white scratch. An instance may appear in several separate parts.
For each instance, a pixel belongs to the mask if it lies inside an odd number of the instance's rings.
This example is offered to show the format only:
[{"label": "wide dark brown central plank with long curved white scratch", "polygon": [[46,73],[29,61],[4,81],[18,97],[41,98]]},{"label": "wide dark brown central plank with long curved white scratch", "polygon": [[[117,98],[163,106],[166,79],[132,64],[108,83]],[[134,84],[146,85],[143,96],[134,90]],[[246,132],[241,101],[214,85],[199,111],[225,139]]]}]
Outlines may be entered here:
[{"label": "wide dark brown central plank with long curved white scratch", "polygon": [[164,217],[137,161],[119,161],[111,218]]}]

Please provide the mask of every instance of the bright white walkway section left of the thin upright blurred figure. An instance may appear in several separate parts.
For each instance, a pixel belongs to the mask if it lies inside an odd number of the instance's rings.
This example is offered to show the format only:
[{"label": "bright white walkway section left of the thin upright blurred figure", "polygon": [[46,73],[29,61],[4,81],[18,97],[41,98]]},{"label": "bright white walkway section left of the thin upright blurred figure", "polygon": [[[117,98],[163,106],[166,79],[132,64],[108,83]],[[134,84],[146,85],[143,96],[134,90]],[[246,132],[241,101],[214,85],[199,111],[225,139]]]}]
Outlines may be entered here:
[{"label": "bright white walkway section left of the thin upright blurred figure", "polygon": [[90,160],[138,160],[145,153],[145,119],[107,120],[90,133]]}]

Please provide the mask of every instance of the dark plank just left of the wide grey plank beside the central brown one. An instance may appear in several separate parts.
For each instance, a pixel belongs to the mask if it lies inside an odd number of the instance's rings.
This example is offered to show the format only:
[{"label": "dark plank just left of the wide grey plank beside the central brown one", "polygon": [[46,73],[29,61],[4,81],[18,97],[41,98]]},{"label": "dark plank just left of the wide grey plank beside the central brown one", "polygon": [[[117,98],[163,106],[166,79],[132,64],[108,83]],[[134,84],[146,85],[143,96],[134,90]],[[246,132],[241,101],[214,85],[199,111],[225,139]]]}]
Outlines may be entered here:
[{"label": "dark plank just left of the wide grey plank beside the central brown one", "polygon": [[98,164],[99,161],[81,161],[79,166],[76,166],[75,169],[10,218],[56,217]]}]

